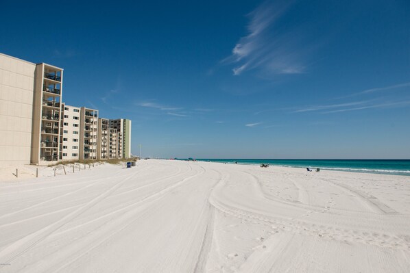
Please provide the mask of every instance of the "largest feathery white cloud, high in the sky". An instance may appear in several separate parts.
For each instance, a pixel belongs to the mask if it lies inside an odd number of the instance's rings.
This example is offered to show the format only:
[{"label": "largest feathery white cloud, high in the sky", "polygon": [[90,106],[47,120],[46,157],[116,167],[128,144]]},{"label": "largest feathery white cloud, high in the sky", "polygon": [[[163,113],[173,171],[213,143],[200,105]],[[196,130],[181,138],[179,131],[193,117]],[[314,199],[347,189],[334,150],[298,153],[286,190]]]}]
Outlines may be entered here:
[{"label": "largest feathery white cloud, high in the sky", "polygon": [[[265,1],[250,12],[248,35],[241,38],[232,49],[232,55],[222,60],[234,64],[233,75],[245,70],[260,68],[269,74],[298,74],[305,72],[300,35],[280,34],[274,28],[276,21],[285,14],[293,1]],[[305,43],[304,48],[308,46]]]}]

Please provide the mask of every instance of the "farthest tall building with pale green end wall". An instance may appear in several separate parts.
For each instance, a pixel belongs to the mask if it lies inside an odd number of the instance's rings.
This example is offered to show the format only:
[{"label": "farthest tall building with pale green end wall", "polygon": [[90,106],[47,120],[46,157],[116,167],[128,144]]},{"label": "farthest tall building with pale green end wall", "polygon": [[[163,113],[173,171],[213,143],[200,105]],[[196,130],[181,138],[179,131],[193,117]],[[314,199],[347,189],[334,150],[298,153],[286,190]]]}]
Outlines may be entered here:
[{"label": "farthest tall building with pale green end wall", "polygon": [[117,120],[110,120],[110,128],[117,129],[118,158],[131,157],[131,120],[119,118]]}]

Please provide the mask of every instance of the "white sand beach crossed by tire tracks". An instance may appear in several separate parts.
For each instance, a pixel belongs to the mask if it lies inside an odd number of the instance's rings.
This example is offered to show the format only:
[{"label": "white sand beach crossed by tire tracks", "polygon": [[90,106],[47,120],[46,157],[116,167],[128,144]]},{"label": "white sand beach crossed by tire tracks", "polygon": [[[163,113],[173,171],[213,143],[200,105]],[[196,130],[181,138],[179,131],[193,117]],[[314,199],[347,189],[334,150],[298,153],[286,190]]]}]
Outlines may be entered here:
[{"label": "white sand beach crossed by tire tracks", "polygon": [[154,159],[57,174],[0,182],[0,272],[410,272],[410,177]]}]

